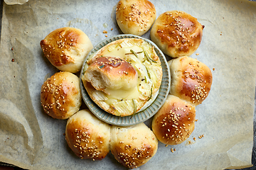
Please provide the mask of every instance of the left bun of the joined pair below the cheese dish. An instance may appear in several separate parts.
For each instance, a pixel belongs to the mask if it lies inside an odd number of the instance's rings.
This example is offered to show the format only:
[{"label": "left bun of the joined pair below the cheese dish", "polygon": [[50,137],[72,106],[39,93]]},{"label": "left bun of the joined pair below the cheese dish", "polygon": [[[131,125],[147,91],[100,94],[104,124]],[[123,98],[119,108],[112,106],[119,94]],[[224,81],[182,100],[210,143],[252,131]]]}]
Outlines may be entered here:
[{"label": "left bun of the joined pair below the cheese dish", "polygon": [[81,159],[101,160],[110,152],[110,125],[85,109],[68,119],[65,139]]}]

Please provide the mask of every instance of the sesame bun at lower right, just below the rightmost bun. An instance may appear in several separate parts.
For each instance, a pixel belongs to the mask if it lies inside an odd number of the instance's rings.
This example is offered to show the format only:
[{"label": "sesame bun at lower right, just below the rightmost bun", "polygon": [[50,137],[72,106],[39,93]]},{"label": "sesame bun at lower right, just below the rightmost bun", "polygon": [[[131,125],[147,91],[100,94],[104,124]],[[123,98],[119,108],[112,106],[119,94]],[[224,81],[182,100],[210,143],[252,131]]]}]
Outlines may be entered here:
[{"label": "sesame bun at lower right, just below the rightmost bun", "polygon": [[157,139],[166,145],[184,142],[195,128],[196,108],[186,101],[169,95],[154,115],[152,129]]}]

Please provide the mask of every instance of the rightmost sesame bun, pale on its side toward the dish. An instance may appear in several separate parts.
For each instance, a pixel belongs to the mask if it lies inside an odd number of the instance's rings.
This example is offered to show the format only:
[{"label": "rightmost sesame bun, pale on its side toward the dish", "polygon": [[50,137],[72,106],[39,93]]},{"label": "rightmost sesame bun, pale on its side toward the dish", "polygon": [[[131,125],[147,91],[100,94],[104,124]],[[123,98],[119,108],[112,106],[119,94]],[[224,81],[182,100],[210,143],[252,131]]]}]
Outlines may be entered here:
[{"label": "rightmost sesame bun, pale on its side toward the dish", "polygon": [[206,100],[213,82],[209,67],[191,57],[178,57],[168,62],[171,72],[170,94],[197,106]]}]

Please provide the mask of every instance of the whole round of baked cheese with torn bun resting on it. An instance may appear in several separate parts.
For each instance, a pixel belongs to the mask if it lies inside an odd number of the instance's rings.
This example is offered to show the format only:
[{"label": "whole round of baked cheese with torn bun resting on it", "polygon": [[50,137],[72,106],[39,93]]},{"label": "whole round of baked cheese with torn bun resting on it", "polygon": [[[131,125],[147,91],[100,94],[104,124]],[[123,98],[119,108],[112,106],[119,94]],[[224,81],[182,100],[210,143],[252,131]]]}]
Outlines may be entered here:
[{"label": "whole round of baked cheese with torn bun resting on it", "polygon": [[124,38],[89,56],[81,79],[100,108],[127,116],[143,111],[154,101],[162,74],[154,46],[139,38]]}]

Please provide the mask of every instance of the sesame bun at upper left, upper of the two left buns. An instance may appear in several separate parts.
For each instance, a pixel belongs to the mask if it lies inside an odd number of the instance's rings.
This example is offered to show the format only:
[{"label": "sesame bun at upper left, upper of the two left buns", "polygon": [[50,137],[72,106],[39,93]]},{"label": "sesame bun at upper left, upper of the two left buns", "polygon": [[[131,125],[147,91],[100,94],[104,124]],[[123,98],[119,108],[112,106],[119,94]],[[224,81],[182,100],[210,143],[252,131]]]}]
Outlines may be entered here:
[{"label": "sesame bun at upper left, upper of the two left buns", "polygon": [[58,28],[40,42],[43,54],[61,71],[79,72],[92,43],[78,28]]}]

